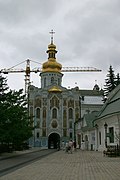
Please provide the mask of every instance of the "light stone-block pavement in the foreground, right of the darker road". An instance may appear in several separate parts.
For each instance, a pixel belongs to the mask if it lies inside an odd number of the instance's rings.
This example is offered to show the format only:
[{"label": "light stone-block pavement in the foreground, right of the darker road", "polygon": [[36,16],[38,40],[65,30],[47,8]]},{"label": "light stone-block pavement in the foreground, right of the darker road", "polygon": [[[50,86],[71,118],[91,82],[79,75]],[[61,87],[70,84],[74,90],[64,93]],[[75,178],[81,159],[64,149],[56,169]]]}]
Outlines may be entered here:
[{"label": "light stone-block pavement in the foreground, right of the darker road", "polygon": [[0,180],[120,180],[120,157],[81,150],[68,154],[61,150]]}]

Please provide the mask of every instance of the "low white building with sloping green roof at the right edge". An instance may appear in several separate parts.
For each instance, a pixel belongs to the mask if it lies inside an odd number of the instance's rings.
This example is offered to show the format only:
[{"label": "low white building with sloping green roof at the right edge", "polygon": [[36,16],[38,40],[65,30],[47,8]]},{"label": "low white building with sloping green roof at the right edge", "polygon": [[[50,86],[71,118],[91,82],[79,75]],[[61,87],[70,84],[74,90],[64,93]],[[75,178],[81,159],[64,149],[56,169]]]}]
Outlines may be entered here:
[{"label": "low white building with sloping green roof at the right edge", "polygon": [[96,150],[102,151],[108,145],[120,145],[120,85],[109,94],[94,125]]}]

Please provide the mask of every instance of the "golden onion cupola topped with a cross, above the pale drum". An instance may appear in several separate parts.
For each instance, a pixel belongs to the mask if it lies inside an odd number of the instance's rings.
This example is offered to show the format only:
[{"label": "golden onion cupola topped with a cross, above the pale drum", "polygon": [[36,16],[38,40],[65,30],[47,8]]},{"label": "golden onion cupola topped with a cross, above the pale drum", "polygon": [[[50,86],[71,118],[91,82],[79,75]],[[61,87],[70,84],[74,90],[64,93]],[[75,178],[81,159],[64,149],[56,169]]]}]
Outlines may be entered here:
[{"label": "golden onion cupola topped with a cross, above the pale drum", "polygon": [[48,61],[43,63],[42,72],[61,72],[62,65],[56,61],[56,46],[53,44],[53,31],[51,31],[51,43],[48,45]]}]

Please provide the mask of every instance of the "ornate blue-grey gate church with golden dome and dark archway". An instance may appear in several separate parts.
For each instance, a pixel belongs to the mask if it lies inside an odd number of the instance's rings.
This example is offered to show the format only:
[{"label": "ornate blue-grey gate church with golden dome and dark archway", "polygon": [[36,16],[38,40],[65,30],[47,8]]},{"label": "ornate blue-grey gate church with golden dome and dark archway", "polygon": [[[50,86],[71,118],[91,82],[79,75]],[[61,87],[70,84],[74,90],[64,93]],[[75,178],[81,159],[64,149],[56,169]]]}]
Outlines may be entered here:
[{"label": "ornate blue-grey gate church with golden dome and dark archway", "polygon": [[31,146],[56,148],[70,139],[81,143],[76,122],[102,107],[103,92],[97,85],[92,90],[62,86],[62,65],[56,60],[56,46],[51,40],[48,59],[40,73],[41,87],[29,86],[29,114],[33,122]]}]

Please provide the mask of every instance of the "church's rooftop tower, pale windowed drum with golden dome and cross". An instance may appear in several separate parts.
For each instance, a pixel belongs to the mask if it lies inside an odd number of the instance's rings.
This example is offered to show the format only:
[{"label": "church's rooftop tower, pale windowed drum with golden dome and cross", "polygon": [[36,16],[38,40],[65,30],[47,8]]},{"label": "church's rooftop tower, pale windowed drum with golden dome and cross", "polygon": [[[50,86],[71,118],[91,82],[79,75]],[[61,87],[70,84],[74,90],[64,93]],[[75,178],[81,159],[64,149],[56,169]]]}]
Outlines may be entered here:
[{"label": "church's rooftop tower, pale windowed drum with golden dome and cross", "polygon": [[62,76],[61,73],[62,65],[56,60],[56,46],[53,44],[53,34],[55,32],[51,30],[51,42],[48,45],[48,60],[42,65],[41,76],[41,88],[46,88],[52,85],[61,86]]}]

